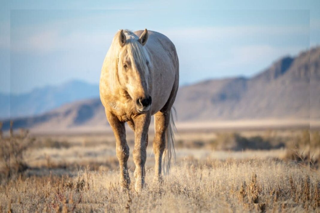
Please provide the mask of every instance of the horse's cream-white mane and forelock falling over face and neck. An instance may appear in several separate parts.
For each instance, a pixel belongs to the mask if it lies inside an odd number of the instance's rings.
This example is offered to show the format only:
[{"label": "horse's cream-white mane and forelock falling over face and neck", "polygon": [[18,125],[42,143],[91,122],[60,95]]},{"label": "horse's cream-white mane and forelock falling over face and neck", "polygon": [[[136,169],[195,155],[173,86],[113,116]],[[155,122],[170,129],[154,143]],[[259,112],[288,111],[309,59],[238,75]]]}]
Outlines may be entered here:
[{"label": "horse's cream-white mane and forelock falling over face and neck", "polygon": [[105,63],[109,73],[109,86],[111,91],[116,88],[118,79],[118,70],[123,69],[122,65],[125,61],[130,60],[132,68],[139,70],[145,74],[146,79],[148,75],[149,56],[146,49],[139,43],[139,37],[130,30],[123,30],[126,36],[126,44],[124,47],[120,46],[118,31],[112,40],[112,44],[108,50]]}]

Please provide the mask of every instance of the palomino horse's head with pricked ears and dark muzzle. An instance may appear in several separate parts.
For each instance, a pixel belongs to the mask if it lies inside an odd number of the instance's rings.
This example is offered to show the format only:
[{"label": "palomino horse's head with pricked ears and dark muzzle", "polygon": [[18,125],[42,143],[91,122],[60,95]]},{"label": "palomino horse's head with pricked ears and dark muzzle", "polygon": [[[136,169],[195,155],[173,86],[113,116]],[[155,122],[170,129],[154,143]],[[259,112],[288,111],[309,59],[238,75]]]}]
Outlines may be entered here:
[{"label": "palomino horse's head with pricked ears and dark muzzle", "polygon": [[151,63],[144,47],[148,40],[148,31],[145,29],[139,38],[130,31],[121,30],[118,33],[118,39],[120,45],[117,60],[119,83],[130,95],[137,110],[147,111],[152,101],[148,85]]}]

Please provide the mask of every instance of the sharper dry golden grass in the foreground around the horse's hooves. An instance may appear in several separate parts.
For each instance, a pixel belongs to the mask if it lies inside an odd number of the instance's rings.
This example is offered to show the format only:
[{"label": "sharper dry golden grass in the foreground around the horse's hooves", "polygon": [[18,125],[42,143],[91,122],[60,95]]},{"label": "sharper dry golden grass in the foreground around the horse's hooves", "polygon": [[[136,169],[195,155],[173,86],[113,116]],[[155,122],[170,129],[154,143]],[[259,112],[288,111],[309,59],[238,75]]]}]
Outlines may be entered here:
[{"label": "sharper dry golden grass in the foreground around the horse's hooves", "polygon": [[[277,160],[185,159],[141,194],[120,191],[118,172],[84,169],[75,176],[19,177],[0,187],[2,211],[186,212],[319,210],[319,173]],[[131,177],[133,176],[131,171]]]}]

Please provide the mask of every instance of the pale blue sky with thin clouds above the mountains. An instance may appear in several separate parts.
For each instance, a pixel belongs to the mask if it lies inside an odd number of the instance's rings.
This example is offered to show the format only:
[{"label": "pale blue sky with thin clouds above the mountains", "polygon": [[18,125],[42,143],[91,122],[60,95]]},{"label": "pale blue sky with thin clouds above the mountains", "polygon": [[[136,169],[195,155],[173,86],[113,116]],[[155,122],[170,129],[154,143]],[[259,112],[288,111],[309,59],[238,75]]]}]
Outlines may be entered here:
[{"label": "pale blue sky with thin clouds above the mountains", "polygon": [[98,84],[119,29],[168,36],[178,52],[181,85],[250,77],[279,57],[320,44],[319,2],[7,1],[0,15],[0,92],[73,79]]}]

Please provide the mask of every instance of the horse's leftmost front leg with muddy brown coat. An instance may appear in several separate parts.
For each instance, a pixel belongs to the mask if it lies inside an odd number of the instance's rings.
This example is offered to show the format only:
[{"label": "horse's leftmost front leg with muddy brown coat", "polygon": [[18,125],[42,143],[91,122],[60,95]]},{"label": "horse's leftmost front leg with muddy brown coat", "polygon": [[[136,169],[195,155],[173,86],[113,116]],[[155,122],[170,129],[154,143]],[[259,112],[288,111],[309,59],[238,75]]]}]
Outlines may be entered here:
[{"label": "horse's leftmost front leg with muddy brown coat", "polygon": [[126,141],[124,123],[109,112],[106,112],[110,126],[116,137],[116,156],[120,164],[120,185],[124,189],[129,189],[130,177],[128,173],[127,161],[129,158],[129,146]]}]

